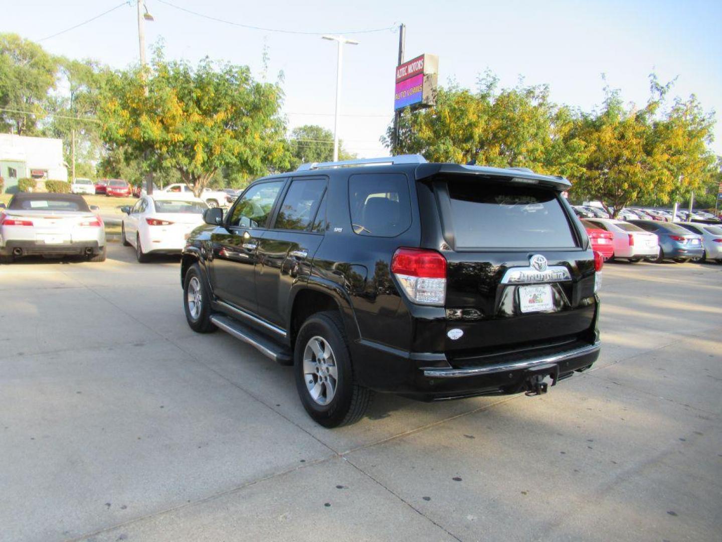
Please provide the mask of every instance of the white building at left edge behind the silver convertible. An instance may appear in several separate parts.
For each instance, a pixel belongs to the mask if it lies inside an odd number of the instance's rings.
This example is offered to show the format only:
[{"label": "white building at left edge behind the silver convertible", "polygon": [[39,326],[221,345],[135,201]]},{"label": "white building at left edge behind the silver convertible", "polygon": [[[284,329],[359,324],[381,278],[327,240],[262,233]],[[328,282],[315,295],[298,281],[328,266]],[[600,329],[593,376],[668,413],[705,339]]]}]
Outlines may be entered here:
[{"label": "white building at left edge behind the silver convertible", "polygon": [[63,140],[0,134],[0,176],[5,192],[17,192],[17,179],[68,180],[63,160]]}]

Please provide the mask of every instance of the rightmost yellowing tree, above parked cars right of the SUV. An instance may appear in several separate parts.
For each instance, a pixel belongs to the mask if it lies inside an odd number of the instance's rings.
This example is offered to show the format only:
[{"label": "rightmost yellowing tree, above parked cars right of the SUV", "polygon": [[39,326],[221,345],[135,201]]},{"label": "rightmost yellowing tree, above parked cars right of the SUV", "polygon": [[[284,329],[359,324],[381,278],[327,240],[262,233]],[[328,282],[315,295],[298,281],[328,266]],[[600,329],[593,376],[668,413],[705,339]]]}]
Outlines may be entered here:
[{"label": "rightmost yellowing tree, above parked cars right of the SUV", "polygon": [[713,118],[694,96],[675,99],[665,111],[671,87],[652,74],[643,108],[625,107],[619,90],[607,87],[604,106],[580,117],[573,132],[586,145],[586,158],[574,179],[575,197],[599,200],[617,216],[631,203],[677,201],[709,183]]}]

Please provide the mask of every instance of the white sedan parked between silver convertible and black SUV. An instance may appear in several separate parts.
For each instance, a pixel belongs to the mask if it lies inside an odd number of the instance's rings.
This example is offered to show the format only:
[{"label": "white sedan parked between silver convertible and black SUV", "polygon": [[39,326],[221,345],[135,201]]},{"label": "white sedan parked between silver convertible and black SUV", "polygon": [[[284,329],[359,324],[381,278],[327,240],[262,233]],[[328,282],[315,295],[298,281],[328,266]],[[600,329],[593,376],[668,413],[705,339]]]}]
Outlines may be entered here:
[{"label": "white sedan parked between silver convertible and black SUV", "polygon": [[204,223],[208,205],[201,199],[173,199],[170,194],[141,197],[133,207],[121,207],[121,241],[134,246],[139,262],[149,254],[181,254],[188,234]]}]

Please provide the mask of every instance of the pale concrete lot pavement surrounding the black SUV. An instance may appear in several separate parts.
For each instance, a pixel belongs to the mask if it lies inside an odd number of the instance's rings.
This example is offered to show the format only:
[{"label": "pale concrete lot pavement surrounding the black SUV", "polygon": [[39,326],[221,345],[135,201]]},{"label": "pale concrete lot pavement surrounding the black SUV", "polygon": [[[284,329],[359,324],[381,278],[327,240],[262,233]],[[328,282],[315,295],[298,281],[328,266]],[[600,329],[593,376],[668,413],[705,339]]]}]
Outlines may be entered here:
[{"label": "pale concrete lot pavement surrounding the black SUV", "polygon": [[593,368],[541,397],[377,396],[189,330],[178,260],[0,267],[0,540],[712,541],[722,265],[607,264]]}]

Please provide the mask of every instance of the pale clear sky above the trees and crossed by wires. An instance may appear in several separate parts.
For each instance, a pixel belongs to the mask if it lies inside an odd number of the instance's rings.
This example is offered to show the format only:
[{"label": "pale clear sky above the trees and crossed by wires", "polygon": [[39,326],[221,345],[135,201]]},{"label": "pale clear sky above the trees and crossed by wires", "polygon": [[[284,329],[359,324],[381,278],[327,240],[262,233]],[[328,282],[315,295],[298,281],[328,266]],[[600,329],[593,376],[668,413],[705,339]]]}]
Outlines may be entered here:
[{"label": "pale clear sky above the trees and crossed by wires", "polygon": [[[138,60],[136,0],[74,30],[42,40],[52,53],[93,58],[122,68]],[[678,77],[674,94],[695,93],[706,110],[722,114],[722,1],[427,1],[344,2],[147,0],[154,22],[148,45],[162,39],[171,58],[203,56],[247,64],[259,77],[264,46],[268,77],[283,72],[284,111],[290,127],[333,128],[336,44],[320,35],[250,30],[177,9],[243,25],[314,33],[341,33],[406,24],[406,59],[439,56],[439,81],[474,88],[491,69],[504,86],[519,76],[548,83],[552,99],[592,108],[603,98],[601,73],[625,100],[644,103],[648,74]],[[0,0],[0,31],[41,40],[121,4],[121,0]],[[393,116],[396,30],[349,34],[344,48],[339,133],[362,157],[387,155],[379,137]],[[722,155],[722,126],[713,149]]]}]

